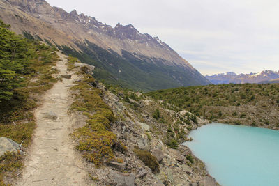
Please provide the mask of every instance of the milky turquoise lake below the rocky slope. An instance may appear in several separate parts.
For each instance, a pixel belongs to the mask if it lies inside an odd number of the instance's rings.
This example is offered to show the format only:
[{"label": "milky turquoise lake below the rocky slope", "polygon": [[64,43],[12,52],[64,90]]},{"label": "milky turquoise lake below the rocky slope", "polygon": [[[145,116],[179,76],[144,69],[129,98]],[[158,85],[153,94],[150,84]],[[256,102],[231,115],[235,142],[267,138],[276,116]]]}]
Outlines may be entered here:
[{"label": "milky turquoise lake below the rocky slope", "polygon": [[213,123],[184,143],[223,186],[279,185],[279,131]]}]

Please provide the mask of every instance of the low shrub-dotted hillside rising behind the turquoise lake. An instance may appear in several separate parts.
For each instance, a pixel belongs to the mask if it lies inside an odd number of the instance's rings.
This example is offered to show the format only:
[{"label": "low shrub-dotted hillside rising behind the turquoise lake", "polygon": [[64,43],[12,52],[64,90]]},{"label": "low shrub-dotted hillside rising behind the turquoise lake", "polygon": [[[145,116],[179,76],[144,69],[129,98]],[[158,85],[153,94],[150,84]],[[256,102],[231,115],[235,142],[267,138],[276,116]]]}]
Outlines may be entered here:
[{"label": "low shrub-dotted hillside rising behind the turquoise lake", "polygon": [[147,95],[176,106],[170,109],[185,109],[214,122],[279,127],[279,84],[192,86]]}]

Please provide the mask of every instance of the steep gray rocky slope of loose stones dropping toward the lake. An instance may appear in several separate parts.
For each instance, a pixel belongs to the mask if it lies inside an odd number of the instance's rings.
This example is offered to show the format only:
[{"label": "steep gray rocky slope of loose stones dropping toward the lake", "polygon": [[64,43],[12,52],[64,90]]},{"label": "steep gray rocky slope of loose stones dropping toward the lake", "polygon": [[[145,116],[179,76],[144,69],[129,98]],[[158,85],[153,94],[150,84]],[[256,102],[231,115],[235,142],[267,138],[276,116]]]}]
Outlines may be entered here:
[{"label": "steep gray rocky slope of loose stones dropping toward the lake", "polygon": [[[151,100],[140,100],[142,107],[137,107],[137,110],[134,110],[132,105],[135,104],[135,100],[129,100],[130,103],[123,102],[121,93],[117,96],[107,91],[107,88],[103,86],[99,85],[98,88],[105,92],[103,100],[110,105],[114,114],[122,117],[118,123],[112,125],[112,131],[123,141],[128,149],[127,153],[118,155],[126,163],[125,171],[135,174],[135,185],[217,184],[213,178],[206,175],[204,164],[195,158],[187,147],[179,146],[177,149],[172,149],[165,144],[165,137],[167,136],[165,132],[167,132],[169,124],[156,121],[156,119],[152,118],[152,111],[149,110],[154,109],[154,107],[158,108],[160,104],[156,104]],[[160,107],[160,109],[162,108]],[[172,122],[179,117],[190,114],[187,111],[178,113],[170,110],[165,111],[167,116],[173,116]],[[167,120],[168,118],[165,119]],[[197,118],[197,123],[191,123],[191,125],[195,128],[205,123],[207,121]],[[188,131],[186,126],[184,130]],[[160,135],[156,135],[156,132],[160,133]],[[156,157],[156,160],[160,163],[159,173],[152,173],[146,164],[142,164],[143,162],[133,153],[135,146],[138,149],[150,152],[151,155]],[[188,155],[193,158],[192,162],[187,159]]]}]

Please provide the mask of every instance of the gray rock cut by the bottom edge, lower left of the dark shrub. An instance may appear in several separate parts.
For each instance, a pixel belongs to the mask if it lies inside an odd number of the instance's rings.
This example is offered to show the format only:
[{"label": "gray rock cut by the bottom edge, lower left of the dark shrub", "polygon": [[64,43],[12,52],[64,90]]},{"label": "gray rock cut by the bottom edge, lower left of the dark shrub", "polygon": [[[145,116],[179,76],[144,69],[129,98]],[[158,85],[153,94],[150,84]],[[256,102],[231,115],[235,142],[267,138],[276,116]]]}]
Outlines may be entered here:
[{"label": "gray rock cut by the bottom edge, lower left of the dark shrub", "polygon": [[135,174],[133,173],[110,173],[110,178],[116,183],[116,186],[134,186]]}]

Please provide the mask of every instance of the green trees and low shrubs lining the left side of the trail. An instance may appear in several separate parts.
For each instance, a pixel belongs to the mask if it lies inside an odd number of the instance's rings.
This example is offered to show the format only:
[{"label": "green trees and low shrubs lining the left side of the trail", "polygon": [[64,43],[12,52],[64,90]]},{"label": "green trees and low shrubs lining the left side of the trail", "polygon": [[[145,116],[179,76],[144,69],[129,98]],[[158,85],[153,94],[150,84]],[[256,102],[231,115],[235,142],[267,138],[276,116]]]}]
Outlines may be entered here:
[{"label": "green trees and low shrubs lining the left side of the trail", "polygon": [[[52,70],[58,56],[53,47],[38,40],[27,40],[10,31],[0,20],[0,137],[13,139],[23,148],[31,144],[36,127],[33,109],[40,94],[57,81]],[[15,177],[22,157],[6,153],[0,157],[0,185],[6,177]],[[11,177],[12,176],[12,177]]]}]

